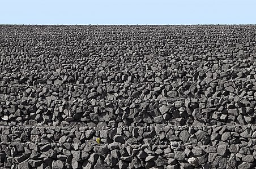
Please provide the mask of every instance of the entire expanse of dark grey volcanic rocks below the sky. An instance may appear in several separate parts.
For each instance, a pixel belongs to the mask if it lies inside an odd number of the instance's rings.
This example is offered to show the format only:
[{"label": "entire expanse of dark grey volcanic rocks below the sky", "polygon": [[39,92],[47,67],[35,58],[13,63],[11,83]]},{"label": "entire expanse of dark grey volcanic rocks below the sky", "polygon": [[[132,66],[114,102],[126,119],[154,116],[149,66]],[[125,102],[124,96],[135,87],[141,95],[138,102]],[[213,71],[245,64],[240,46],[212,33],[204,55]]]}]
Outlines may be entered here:
[{"label": "entire expanse of dark grey volcanic rocks below the sky", "polygon": [[254,168],[255,49],[255,25],[0,25],[0,168]]}]

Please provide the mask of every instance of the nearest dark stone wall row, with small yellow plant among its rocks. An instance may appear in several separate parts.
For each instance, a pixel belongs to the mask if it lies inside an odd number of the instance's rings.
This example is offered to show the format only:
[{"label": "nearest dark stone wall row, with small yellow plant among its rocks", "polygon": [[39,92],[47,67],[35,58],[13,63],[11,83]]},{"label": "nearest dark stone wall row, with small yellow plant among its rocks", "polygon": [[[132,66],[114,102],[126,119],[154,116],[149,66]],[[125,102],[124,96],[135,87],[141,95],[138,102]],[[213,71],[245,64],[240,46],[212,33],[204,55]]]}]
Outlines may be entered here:
[{"label": "nearest dark stone wall row, with small yellow plant among its rocks", "polygon": [[[4,167],[251,168],[256,127],[1,127]],[[96,139],[100,138],[97,143]],[[101,166],[101,167],[100,167]]]}]

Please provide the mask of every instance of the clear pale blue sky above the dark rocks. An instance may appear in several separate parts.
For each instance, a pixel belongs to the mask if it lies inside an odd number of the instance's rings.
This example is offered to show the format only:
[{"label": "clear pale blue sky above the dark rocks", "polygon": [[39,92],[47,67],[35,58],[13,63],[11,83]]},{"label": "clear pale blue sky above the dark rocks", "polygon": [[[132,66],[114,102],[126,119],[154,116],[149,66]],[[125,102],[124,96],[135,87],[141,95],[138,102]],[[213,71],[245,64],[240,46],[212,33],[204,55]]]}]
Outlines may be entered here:
[{"label": "clear pale blue sky above the dark rocks", "polygon": [[0,24],[256,24],[256,1],[0,0]]}]

